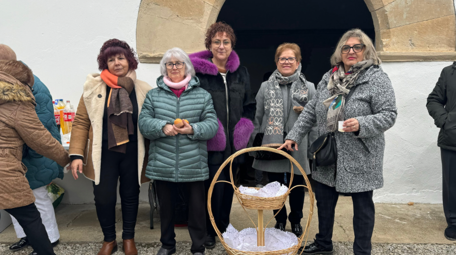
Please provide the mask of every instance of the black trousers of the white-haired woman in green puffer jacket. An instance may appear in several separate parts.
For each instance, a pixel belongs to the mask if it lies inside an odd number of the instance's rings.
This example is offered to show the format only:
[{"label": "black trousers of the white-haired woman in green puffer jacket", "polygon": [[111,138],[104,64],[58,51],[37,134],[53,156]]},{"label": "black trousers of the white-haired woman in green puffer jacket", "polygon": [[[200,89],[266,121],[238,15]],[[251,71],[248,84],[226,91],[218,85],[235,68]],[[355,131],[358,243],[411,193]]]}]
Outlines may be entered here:
[{"label": "black trousers of the white-haired woman in green puffer jacket", "polygon": [[176,233],[174,232],[174,210],[178,194],[178,185],[182,185],[184,192],[188,194],[188,232],[192,239],[190,251],[193,253],[204,252],[206,241],[206,217],[204,181],[171,182],[155,180],[158,202],[160,204],[160,221],[162,236],[160,241],[165,249],[176,246]]}]

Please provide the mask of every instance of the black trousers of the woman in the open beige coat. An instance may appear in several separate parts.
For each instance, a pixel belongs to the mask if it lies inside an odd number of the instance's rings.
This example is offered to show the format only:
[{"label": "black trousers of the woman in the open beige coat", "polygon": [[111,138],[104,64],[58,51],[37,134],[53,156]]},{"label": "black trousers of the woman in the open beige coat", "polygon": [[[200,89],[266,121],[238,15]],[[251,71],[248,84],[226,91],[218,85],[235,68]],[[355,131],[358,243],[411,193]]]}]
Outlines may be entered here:
[{"label": "black trousers of the woman in the open beige coat", "polygon": [[129,142],[126,153],[108,150],[108,141],[101,147],[100,182],[94,186],[95,207],[104,240],[114,241],[115,204],[117,202],[117,181],[120,178],[119,194],[122,207],[122,239],[134,238],[134,227],[138,216],[138,143]]}]

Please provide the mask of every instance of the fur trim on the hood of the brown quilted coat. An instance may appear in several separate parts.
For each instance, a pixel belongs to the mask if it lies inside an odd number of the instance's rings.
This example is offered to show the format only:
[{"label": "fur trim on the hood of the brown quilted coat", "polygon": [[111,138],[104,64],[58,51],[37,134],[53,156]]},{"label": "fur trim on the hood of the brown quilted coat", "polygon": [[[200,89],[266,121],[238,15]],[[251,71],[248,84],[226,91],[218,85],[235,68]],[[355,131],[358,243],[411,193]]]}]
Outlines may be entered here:
[{"label": "fur trim on the hood of the brown quilted coat", "polygon": [[32,102],[35,103],[32,91],[22,84],[11,84],[0,81],[0,105],[8,102]]}]

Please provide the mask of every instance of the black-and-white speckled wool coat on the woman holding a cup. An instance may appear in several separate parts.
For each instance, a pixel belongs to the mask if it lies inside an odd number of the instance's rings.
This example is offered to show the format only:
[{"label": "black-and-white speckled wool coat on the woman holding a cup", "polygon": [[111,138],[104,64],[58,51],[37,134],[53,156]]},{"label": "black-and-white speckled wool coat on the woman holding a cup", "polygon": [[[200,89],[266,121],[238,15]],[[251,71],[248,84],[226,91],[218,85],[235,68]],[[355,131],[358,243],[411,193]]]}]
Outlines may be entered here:
[{"label": "black-and-white speckled wool coat on the woman holding a cup", "polygon": [[[318,123],[319,136],[327,134],[328,110],[323,101],[330,96],[327,90],[330,74],[331,71],[323,75],[315,97],[306,105],[286,139],[299,144],[315,123]],[[317,167],[312,172],[312,179],[343,193],[383,187],[384,132],[394,125],[397,117],[391,80],[380,66],[362,71],[355,85],[355,91],[345,105],[345,120],[357,119],[359,133],[336,131],[337,169],[330,165]],[[370,153],[364,150],[357,137],[362,138]]]}]

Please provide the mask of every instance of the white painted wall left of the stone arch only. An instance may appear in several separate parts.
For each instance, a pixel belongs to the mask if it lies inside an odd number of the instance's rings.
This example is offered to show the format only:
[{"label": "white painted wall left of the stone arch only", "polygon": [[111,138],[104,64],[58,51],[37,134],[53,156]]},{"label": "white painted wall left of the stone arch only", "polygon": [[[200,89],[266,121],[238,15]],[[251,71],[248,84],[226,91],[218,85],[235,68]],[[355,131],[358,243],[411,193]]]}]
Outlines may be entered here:
[{"label": "white painted wall left of the stone arch only", "polygon": [[[112,38],[136,48],[136,20],[141,0],[34,1],[0,0],[0,44],[9,45],[48,86],[52,97],[77,107],[82,85],[98,71],[101,45]],[[151,28],[153,29],[153,28]],[[152,86],[160,76],[157,64],[140,63],[137,77]],[[63,203],[93,203],[92,181],[65,174],[55,180],[65,188]],[[147,184],[140,199],[147,201]],[[120,198],[117,199],[120,201]]]}]

